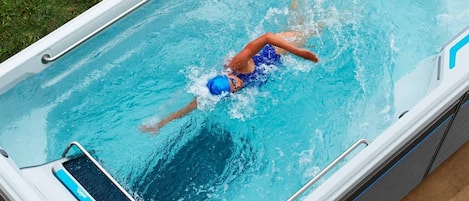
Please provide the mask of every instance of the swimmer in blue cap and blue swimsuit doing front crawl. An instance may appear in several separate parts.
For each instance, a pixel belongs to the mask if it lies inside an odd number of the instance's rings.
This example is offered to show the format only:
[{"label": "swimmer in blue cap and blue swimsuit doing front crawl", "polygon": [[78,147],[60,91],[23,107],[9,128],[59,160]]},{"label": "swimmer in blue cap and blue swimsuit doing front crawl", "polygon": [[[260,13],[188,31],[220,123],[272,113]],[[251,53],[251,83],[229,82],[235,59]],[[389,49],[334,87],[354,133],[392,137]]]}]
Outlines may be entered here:
[{"label": "swimmer in blue cap and blue swimsuit doing front crawl", "polygon": [[[296,8],[297,1],[292,3]],[[281,56],[292,53],[306,60],[319,62],[319,58],[313,52],[302,48],[310,34],[302,31],[288,31],[281,33],[265,33],[250,41],[227,64],[226,73],[211,78],[207,88],[212,95],[226,96],[248,86],[260,86],[266,79],[262,76],[269,75],[264,65],[281,65]],[[156,125],[142,125],[142,132],[157,133],[168,122],[181,118],[197,108],[197,99],[194,98],[187,106],[161,120]]]}]

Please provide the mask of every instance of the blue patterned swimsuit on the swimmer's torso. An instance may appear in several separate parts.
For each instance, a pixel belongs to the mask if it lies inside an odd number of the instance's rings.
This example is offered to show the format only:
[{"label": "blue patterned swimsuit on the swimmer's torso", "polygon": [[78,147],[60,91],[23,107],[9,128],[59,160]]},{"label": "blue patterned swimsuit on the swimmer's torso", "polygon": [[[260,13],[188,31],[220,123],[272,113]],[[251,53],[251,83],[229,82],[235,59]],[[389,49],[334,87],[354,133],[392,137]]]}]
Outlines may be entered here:
[{"label": "blue patterned swimsuit on the swimmer's torso", "polygon": [[254,71],[247,74],[237,74],[243,80],[245,86],[261,86],[267,82],[270,74],[282,64],[280,55],[275,48],[267,44],[262,50],[252,57]]}]

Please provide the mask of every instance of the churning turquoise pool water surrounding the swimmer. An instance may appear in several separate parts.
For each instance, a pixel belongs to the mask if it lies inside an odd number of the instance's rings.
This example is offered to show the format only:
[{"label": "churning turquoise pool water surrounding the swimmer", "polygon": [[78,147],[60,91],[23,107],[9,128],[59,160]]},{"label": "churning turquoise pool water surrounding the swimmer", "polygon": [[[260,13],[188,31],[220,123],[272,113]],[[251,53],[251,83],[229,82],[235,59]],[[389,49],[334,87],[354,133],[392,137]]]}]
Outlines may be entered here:
[{"label": "churning turquoise pool water surrounding the swimmer", "polygon": [[[462,1],[289,3],[150,1],[1,95],[0,146],[23,167],[79,141],[142,200],[285,200],[395,122],[396,83],[469,24]],[[319,33],[319,64],[289,55],[260,88],[206,95],[227,55],[290,28]],[[138,131],[194,96],[199,110]]]}]

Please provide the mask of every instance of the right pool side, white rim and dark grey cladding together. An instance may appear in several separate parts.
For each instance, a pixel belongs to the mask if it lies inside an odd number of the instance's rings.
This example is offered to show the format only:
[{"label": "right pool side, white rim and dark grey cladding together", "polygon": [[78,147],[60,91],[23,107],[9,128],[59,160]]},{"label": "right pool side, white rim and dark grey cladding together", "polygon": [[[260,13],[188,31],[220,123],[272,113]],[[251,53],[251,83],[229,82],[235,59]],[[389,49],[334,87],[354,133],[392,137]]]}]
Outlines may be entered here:
[{"label": "right pool side, white rim and dark grey cladding together", "polygon": [[469,29],[442,48],[439,84],[305,200],[400,200],[469,141]]}]

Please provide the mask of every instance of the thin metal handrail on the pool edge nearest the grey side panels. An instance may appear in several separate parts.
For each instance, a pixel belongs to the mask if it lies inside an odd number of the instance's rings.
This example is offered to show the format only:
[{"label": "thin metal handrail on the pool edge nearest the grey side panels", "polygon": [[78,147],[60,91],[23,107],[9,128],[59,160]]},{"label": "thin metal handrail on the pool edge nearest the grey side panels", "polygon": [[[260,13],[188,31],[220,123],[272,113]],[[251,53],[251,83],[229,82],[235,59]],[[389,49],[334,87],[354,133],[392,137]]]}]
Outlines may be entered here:
[{"label": "thin metal handrail on the pool edge nearest the grey side panels", "polygon": [[352,146],[350,146],[347,150],[345,150],[339,157],[337,157],[332,163],[330,163],[326,168],[324,168],[318,175],[316,175],[313,179],[311,179],[308,183],[306,183],[300,190],[298,190],[295,194],[293,194],[288,201],[293,201],[298,198],[301,194],[303,194],[308,188],[310,188],[314,183],[316,183],[322,176],[324,176],[327,172],[329,172],[337,163],[339,163],[342,159],[344,159],[348,154],[350,154],[355,148],[357,148],[360,144],[365,144],[368,146],[370,143],[366,139],[360,139],[355,142]]}]

